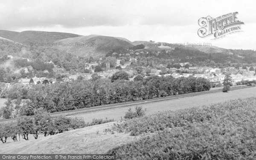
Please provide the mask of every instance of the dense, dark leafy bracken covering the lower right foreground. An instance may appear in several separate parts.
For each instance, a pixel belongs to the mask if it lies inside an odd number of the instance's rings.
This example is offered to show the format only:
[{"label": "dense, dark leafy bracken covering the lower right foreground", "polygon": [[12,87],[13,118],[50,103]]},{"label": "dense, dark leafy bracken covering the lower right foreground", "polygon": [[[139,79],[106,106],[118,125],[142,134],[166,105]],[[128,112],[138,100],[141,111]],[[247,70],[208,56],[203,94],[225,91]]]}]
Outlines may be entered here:
[{"label": "dense, dark leafy bracken covering the lower right foreground", "polygon": [[122,160],[256,159],[256,98],[169,111],[131,119],[113,128],[153,136],[113,148]]}]

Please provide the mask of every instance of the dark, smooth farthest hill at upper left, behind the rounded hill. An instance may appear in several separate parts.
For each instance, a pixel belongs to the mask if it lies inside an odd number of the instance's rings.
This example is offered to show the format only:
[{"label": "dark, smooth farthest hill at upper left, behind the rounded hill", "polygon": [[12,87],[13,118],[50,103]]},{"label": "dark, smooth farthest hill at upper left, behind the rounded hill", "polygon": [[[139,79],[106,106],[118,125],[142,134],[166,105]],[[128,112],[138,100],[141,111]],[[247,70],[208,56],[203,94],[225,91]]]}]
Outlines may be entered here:
[{"label": "dark, smooth farthest hill at upper left, behind the rounded hill", "polygon": [[12,32],[6,30],[0,30],[0,37],[7,38],[9,40],[19,42],[21,44],[29,43],[52,43],[65,38],[79,37],[71,33],[62,32],[44,32],[44,31],[23,31]]}]

